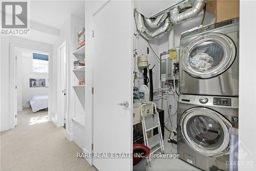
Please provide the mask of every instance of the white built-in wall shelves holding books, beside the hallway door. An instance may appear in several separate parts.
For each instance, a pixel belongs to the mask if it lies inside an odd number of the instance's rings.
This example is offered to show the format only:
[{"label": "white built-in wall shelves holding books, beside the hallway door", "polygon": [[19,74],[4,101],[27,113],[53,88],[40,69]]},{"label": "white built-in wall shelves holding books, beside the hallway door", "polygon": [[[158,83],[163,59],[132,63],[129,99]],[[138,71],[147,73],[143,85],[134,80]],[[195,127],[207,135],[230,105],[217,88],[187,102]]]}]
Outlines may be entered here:
[{"label": "white built-in wall shelves holding books, beside the hallway door", "polygon": [[[85,127],[85,47],[84,47],[84,28],[76,27],[75,29],[75,50],[72,53],[74,56],[74,63],[72,74],[74,74],[73,90],[74,90],[74,113],[71,117],[73,125],[73,141],[82,149],[84,147],[84,127]],[[83,38],[80,38],[80,37]],[[82,41],[82,42],[81,42]],[[78,48],[80,47],[80,48]]]}]

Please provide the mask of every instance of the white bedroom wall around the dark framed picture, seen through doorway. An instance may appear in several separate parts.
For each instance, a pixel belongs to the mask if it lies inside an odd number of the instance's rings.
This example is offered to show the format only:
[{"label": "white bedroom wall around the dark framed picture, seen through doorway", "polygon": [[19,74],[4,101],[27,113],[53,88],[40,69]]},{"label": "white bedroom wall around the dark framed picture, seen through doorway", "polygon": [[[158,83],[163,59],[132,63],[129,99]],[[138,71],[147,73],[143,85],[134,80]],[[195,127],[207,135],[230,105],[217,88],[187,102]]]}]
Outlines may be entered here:
[{"label": "white bedroom wall around the dark framed picture, seen through doorway", "polygon": [[[33,58],[32,52],[30,53],[29,57],[17,55],[17,110],[20,110],[20,105],[22,108],[29,108],[28,98],[33,95],[48,95],[48,74],[32,72]],[[46,79],[46,87],[30,88],[30,78]]]}]

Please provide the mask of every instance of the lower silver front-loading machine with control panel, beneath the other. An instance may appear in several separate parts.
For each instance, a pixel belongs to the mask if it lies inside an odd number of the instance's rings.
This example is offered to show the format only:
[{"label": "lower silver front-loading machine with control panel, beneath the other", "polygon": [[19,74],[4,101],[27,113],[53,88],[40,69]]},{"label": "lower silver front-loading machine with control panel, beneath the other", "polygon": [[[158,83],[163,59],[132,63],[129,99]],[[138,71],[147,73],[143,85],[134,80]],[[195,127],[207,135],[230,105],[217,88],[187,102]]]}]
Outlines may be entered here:
[{"label": "lower silver front-loading machine with control panel, beneath the other", "polygon": [[229,132],[238,129],[238,97],[180,95],[178,154],[203,170],[228,170]]}]

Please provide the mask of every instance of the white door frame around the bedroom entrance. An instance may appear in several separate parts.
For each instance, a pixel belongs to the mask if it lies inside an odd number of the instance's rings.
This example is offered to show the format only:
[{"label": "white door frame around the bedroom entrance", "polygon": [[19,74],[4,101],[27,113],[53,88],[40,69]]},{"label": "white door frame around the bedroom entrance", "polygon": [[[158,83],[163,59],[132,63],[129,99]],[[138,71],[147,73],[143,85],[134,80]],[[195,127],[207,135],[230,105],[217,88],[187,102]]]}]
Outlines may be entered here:
[{"label": "white door frame around the bedroom entrance", "polygon": [[[10,62],[9,62],[9,73],[10,73],[10,77],[9,77],[9,85],[10,85],[10,89],[9,89],[9,129],[13,129],[15,127],[15,115],[17,114],[17,110],[14,109],[14,103],[16,103],[15,99],[17,98],[17,94],[15,95],[15,80],[17,79],[17,75],[15,73],[16,71],[16,65],[15,65],[15,56],[16,56],[16,50],[17,49],[26,49],[29,51],[35,51],[35,52],[42,52],[42,53],[47,53],[49,54],[49,65],[48,65],[48,69],[49,69],[49,73],[48,73],[48,78],[49,78],[49,83],[48,83],[48,95],[49,95],[49,101],[52,100],[52,86],[50,84],[50,82],[52,82],[52,70],[50,68],[50,61],[52,61],[52,51],[47,50],[47,49],[42,49],[42,48],[37,48],[37,47],[33,47],[33,46],[27,46],[27,45],[20,45],[20,44],[15,44],[15,43],[10,43]],[[50,73],[51,72],[51,73]],[[49,102],[49,104],[51,104],[51,102]],[[51,108],[49,110],[48,108],[48,119],[49,121],[52,121],[52,111]]]}]

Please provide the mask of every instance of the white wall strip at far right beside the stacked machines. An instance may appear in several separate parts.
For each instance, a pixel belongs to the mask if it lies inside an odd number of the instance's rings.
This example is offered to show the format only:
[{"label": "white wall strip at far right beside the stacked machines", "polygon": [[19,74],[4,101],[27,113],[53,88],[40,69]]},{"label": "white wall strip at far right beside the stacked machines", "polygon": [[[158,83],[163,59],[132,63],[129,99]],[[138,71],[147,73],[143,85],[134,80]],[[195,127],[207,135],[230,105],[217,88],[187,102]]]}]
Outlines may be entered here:
[{"label": "white wall strip at far right beside the stacked machines", "polygon": [[256,170],[255,9],[256,1],[240,1],[239,170]]}]

